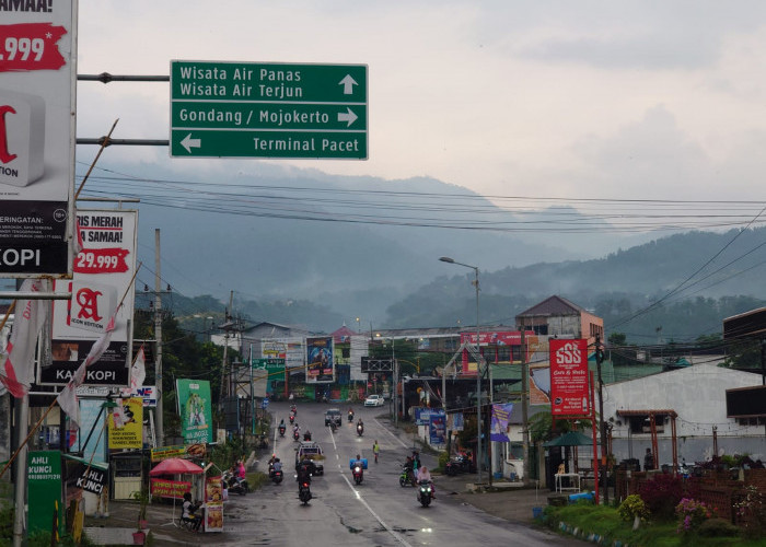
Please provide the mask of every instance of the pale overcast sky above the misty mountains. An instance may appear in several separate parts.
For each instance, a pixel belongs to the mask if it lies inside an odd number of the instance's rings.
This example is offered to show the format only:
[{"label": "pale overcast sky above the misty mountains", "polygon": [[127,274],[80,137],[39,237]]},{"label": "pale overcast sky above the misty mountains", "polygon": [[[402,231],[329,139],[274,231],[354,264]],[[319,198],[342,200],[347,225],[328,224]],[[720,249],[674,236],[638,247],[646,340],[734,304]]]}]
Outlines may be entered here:
[{"label": "pale overcast sky above the misty mountains", "polygon": [[[758,0],[80,0],[78,72],[362,63],[370,159],[271,163],[483,195],[762,200],[765,12]],[[120,118],[115,138],[166,139],[169,95],[80,82],[78,136]],[[126,156],[167,150],[112,147],[100,165]]]}]

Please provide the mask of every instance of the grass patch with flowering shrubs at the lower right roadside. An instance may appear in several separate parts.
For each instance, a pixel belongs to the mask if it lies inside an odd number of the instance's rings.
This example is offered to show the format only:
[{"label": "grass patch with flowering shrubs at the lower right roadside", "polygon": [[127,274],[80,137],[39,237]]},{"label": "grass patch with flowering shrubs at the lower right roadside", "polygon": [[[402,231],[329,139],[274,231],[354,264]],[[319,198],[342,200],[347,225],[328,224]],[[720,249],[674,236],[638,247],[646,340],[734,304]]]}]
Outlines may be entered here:
[{"label": "grass patch with flowering shrubs at the lower right roadside", "polygon": [[642,522],[634,532],[632,522],[623,521],[616,508],[577,503],[562,508],[545,509],[545,522],[558,531],[558,523],[565,522],[585,534],[599,534],[628,545],[651,545],[652,547],[766,547],[766,538],[746,539],[738,537],[703,537],[698,534],[676,533],[677,523]]}]

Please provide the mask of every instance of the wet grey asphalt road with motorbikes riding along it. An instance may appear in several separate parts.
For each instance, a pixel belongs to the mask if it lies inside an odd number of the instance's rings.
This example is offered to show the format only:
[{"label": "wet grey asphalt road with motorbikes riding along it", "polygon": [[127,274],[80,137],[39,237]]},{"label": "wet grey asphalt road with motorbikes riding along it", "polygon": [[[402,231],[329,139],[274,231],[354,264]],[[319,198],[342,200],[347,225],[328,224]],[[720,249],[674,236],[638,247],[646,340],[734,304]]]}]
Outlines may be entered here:
[{"label": "wet grey asphalt road with motorbikes riding along it", "polygon": [[[336,433],[324,427],[324,410],[332,405],[299,404],[301,430],[310,429],[324,451],[324,476],[312,481],[314,499],[302,505],[293,477],[294,450],[289,437],[278,438],[274,452],[285,463],[286,480],[268,484],[255,493],[231,497],[227,503],[227,545],[268,546],[422,546],[439,545],[523,545],[543,547],[576,545],[569,538],[545,531],[509,523],[437,491],[438,498],[422,508],[411,487],[398,485],[401,464],[411,452],[411,438],[390,431],[375,417],[387,407],[355,406],[356,418],[364,421],[364,435],[358,437],[341,407],[344,424]],[[287,422],[289,405],[269,408],[278,423]],[[356,420],[355,418],[355,420]],[[381,446],[380,463],[372,454],[374,440]],[[369,459],[364,480],[353,484],[349,458],[361,454]],[[434,456],[423,455],[423,464],[434,466]],[[266,462],[259,465],[266,470]],[[454,498],[454,497],[453,497]]]}]

